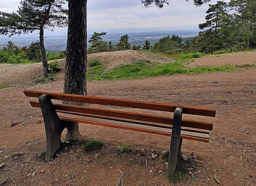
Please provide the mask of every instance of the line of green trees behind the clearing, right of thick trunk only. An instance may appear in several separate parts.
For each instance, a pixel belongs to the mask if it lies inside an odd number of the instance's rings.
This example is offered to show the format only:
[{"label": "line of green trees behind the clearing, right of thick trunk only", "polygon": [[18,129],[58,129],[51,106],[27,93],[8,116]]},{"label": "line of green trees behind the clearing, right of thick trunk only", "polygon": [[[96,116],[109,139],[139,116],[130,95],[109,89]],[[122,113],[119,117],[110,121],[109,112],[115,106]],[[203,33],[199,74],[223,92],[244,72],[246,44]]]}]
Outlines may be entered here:
[{"label": "line of green trees behind the clearing, right of thick trunk only", "polygon": [[[161,1],[144,1],[157,3]],[[164,1],[168,2],[168,1]],[[195,1],[194,1],[195,2]],[[163,5],[163,4],[162,4]],[[142,46],[131,46],[128,42],[129,36],[121,36],[119,42],[113,45],[111,42],[103,42],[102,37],[106,32],[92,35],[95,38],[100,34],[98,40],[89,40],[92,44],[88,53],[118,50],[153,50],[167,54],[179,54],[188,52],[220,53],[242,51],[256,48],[256,1],[255,0],[231,0],[229,3],[217,1],[209,4],[206,12],[206,22],[199,24],[202,30],[194,38],[182,39],[172,35],[161,38],[154,46],[148,40]],[[97,38],[96,38],[97,39]],[[92,41],[92,42],[90,42]]]}]

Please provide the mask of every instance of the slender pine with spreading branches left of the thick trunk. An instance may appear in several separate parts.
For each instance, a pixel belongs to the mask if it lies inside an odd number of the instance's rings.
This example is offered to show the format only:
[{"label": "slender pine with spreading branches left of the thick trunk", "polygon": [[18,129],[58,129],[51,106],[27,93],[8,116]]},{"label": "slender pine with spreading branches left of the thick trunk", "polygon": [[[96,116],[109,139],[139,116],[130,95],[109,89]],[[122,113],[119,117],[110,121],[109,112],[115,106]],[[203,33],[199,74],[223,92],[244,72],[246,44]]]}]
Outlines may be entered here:
[{"label": "slender pine with spreading branches left of the thick trunk", "polygon": [[13,36],[39,31],[44,77],[48,76],[48,63],[44,47],[44,29],[66,26],[67,10],[64,0],[21,0],[17,13],[0,12],[0,34]]}]

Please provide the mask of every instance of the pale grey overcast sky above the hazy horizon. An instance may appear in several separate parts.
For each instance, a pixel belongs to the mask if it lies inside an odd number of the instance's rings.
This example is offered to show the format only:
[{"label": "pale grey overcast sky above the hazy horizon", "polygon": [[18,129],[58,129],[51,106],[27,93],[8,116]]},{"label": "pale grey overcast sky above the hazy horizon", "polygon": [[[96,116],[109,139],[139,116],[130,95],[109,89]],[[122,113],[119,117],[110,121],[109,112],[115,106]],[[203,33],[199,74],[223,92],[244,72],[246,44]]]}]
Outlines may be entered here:
[{"label": "pale grey overcast sky above the hazy horizon", "polygon": [[[0,0],[0,11],[16,12],[19,2],[20,0]],[[215,3],[216,0],[212,0],[211,4]],[[204,22],[208,4],[196,7],[193,0],[170,0],[169,5],[159,9],[154,5],[145,8],[141,0],[88,0],[87,9],[89,32],[112,28],[125,30],[153,27],[162,30],[186,30],[198,29],[198,24]]]}]

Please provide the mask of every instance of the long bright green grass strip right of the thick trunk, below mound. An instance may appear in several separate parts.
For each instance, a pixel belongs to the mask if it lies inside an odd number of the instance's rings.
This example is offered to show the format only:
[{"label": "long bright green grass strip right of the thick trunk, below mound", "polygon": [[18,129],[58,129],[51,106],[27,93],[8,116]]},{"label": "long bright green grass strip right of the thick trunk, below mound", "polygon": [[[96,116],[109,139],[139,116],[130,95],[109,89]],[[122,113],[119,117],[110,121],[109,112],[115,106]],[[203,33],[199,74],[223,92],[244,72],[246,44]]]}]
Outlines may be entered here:
[{"label": "long bright green grass strip right of the thick trunk, below mound", "polygon": [[88,80],[122,80],[122,79],[142,79],[146,77],[155,77],[160,75],[208,73],[216,71],[230,71],[238,69],[232,65],[206,66],[206,67],[184,67],[181,61],[168,63],[165,65],[149,64],[144,61],[138,61],[134,64],[120,65],[111,71],[104,72],[103,66],[95,66],[88,70]]}]

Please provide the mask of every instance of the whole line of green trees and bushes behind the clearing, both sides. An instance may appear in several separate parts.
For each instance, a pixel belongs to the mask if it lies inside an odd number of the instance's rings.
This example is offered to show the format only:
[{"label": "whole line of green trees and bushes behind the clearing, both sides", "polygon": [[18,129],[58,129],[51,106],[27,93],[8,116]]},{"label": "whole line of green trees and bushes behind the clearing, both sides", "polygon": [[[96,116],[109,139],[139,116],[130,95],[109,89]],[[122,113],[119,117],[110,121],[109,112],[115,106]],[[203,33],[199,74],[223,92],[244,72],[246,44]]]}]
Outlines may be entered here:
[{"label": "whole line of green trees and bushes behind the clearing, both sides", "polygon": [[[166,54],[189,52],[227,53],[256,48],[256,1],[231,0],[229,3],[217,1],[209,4],[205,17],[206,22],[199,24],[201,32],[193,38],[182,39],[177,35],[161,38],[154,45],[148,40],[143,46],[129,43],[128,34],[121,36],[117,44],[102,41],[107,32],[97,33],[90,37],[88,54],[118,50],[151,50]],[[66,51],[59,53],[46,52],[48,60],[66,57]],[[0,63],[28,63],[42,61],[40,42],[32,42],[28,47],[15,46],[9,41],[0,50]]]}]

